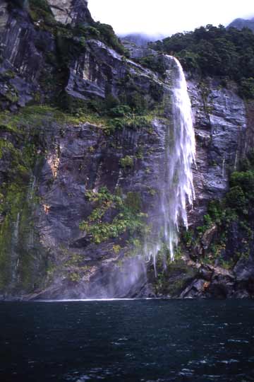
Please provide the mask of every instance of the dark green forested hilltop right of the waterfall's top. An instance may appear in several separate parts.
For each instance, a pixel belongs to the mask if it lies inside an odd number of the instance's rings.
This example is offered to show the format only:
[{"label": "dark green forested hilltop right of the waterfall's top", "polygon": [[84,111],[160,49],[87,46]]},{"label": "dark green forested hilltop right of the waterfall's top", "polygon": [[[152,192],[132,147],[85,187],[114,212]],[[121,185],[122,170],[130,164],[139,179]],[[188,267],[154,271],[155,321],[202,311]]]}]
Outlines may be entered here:
[{"label": "dark green forested hilltop right of the waterfall's top", "polygon": [[242,96],[254,98],[252,30],[207,25],[193,32],[176,33],[150,45],[153,49],[178,57],[188,71],[236,81]]}]

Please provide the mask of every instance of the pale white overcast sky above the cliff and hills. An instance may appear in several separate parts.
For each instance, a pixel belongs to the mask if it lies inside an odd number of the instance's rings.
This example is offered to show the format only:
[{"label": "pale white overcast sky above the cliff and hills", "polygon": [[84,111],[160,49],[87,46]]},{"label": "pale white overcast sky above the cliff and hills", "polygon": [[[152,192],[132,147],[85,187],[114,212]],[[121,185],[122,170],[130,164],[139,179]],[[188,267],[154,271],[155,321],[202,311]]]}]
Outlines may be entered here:
[{"label": "pale white overcast sky above the cliff and hills", "polygon": [[118,35],[169,36],[254,17],[253,0],[88,0],[88,6],[95,21],[112,25]]}]

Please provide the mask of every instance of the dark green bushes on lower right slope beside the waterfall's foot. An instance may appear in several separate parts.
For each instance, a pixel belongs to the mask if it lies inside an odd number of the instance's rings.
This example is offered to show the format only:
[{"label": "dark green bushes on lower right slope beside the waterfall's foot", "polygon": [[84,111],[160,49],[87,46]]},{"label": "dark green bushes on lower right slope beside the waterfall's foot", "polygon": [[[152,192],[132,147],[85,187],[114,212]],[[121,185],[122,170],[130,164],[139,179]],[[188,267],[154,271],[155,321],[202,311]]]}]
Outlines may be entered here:
[{"label": "dark green bushes on lower right slope beside the waterfall's foot", "polygon": [[183,233],[191,256],[202,262],[232,268],[251,253],[254,228],[254,151],[231,173],[224,199],[208,204],[204,224]]}]

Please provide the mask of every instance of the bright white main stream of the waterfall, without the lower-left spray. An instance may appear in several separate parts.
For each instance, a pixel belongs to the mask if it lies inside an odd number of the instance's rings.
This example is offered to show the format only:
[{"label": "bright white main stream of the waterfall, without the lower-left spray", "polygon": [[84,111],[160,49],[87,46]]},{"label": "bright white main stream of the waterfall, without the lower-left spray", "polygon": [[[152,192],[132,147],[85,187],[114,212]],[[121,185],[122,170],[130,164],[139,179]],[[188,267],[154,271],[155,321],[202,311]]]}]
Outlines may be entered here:
[{"label": "bright white main stream of the waterfall, without the lower-left spray", "polygon": [[[164,212],[164,237],[169,245],[171,260],[174,260],[174,247],[178,243],[179,222],[188,228],[186,199],[193,204],[192,165],[195,163],[195,133],[191,115],[191,100],[180,62],[174,58],[178,77],[173,88],[174,131],[167,145],[167,189],[164,190],[162,210]],[[170,133],[170,132],[169,132]]]}]

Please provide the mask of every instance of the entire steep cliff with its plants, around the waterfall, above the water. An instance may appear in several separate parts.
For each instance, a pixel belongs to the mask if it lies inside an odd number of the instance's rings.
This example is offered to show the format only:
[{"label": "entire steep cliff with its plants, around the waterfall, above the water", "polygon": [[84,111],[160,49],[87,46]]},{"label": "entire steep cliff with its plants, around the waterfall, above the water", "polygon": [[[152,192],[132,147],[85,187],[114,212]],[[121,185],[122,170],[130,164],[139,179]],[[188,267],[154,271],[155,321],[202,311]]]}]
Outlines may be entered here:
[{"label": "entire steep cliff with its plants, around the waterfall, above the water", "polygon": [[85,0],[2,1],[0,33],[1,298],[253,296],[254,108],[233,79],[187,75],[196,199],[155,277],[175,59]]}]

